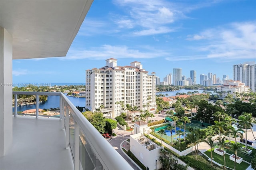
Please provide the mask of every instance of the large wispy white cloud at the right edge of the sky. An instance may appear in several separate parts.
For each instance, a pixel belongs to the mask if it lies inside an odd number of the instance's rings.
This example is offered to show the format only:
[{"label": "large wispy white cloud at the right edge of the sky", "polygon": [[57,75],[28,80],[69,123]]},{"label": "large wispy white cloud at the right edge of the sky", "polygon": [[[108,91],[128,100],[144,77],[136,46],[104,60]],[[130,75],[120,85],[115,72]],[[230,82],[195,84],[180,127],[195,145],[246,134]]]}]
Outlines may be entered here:
[{"label": "large wispy white cloud at the right edge of the sky", "polygon": [[[187,40],[204,40],[194,50],[207,52],[207,58],[256,59],[256,22],[236,22],[188,35]],[[195,44],[196,45],[196,44]]]}]

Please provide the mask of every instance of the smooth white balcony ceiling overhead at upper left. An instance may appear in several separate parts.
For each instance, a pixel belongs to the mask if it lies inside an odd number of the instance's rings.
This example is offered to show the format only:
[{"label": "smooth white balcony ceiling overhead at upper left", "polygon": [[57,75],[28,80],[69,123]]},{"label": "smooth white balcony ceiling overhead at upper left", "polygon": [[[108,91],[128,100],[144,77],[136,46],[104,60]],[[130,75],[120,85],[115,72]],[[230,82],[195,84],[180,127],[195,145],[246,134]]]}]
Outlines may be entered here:
[{"label": "smooth white balcony ceiling overhead at upper left", "polygon": [[92,0],[0,0],[13,59],[66,56]]}]

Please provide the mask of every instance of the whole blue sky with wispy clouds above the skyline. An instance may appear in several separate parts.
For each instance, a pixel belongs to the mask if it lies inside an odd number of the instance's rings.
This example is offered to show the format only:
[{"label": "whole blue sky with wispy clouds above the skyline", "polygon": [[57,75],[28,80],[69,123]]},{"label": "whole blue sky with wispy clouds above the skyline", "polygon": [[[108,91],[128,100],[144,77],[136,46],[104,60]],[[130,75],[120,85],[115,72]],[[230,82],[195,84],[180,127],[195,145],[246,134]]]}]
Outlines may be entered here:
[{"label": "whole blue sky with wispy clouds above the skyline", "polygon": [[255,0],[94,0],[66,57],[13,60],[13,82],[85,82],[85,70],[118,59],[163,77],[182,68],[232,79],[256,61]]}]

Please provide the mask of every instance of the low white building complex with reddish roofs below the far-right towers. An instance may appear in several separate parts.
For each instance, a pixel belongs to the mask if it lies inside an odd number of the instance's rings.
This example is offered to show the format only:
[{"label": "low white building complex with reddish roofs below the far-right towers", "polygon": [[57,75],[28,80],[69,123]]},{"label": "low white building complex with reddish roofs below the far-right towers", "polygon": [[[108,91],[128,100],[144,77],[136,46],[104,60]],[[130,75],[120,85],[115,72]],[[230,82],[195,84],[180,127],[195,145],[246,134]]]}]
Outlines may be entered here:
[{"label": "low white building complex with reddish roofs below the far-right towers", "polygon": [[241,81],[228,80],[227,84],[217,86],[217,92],[223,92],[222,97],[228,93],[236,96],[237,93],[249,93],[249,86],[245,86]]}]

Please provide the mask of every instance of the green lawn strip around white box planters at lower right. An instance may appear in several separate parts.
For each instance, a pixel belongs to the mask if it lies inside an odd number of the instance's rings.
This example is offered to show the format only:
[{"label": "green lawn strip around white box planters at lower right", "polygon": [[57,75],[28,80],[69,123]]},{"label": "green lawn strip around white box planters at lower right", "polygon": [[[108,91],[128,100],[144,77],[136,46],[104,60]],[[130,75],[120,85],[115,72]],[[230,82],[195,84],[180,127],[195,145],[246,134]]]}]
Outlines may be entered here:
[{"label": "green lawn strip around white box planters at lower right", "polygon": [[[204,152],[209,158],[211,158],[211,150],[207,150],[206,152]],[[225,158],[226,158],[226,166],[228,166],[229,168],[233,168],[234,169],[234,161],[229,159],[228,154],[225,154]],[[224,165],[224,158],[223,156],[216,154],[213,150],[212,150],[212,157],[214,158],[213,160],[219,164]],[[241,162],[241,164],[236,163],[236,169],[237,170],[245,170],[246,168],[248,168],[250,164],[247,164],[245,162]]]}]

